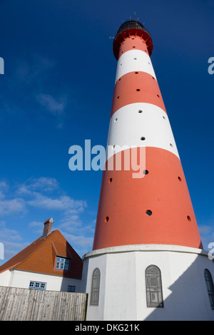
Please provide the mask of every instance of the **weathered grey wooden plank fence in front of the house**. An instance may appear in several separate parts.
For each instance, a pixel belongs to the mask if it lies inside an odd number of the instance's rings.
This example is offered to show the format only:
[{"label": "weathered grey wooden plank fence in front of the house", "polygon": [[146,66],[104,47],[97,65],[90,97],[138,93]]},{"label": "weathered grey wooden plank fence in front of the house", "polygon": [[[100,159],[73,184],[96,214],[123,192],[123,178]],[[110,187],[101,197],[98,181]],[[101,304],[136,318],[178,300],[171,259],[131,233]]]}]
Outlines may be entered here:
[{"label": "weathered grey wooden plank fence in front of the house", "polygon": [[87,294],[0,287],[0,321],[83,321]]}]

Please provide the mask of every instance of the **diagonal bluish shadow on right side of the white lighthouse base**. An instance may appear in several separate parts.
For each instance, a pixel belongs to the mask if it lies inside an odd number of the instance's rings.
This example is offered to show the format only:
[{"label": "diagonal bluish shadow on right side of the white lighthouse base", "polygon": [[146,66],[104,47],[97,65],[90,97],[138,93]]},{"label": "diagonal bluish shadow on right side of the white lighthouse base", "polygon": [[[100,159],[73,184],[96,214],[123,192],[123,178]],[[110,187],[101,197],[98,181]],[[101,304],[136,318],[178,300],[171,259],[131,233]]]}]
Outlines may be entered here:
[{"label": "diagonal bluish shadow on right side of the white lighthouse base", "polygon": [[[163,291],[163,308],[151,308],[151,314],[145,321],[214,321],[213,279],[213,261],[198,255],[190,267],[168,287],[168,297],[164,297]],[[165,278],[162,277],[164,283]]]}]

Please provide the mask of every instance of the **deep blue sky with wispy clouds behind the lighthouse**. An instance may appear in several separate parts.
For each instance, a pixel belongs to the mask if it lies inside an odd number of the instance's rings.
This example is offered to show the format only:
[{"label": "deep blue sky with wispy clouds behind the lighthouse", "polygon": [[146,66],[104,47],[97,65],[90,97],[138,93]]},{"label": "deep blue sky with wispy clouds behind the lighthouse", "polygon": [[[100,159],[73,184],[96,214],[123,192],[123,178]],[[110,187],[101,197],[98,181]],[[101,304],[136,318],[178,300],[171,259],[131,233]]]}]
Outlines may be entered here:
[{"label": "deep blue sky with wispy clouds behind the lighthouse", "polygon": [[137,18],[170,118],[204,248],[214,242],[214,0],[0,0],[0,242],[4,260],[54,218],[91,251],[101,171],[71,171],[71,145],[106,146],[116,59],[111,36]]}]

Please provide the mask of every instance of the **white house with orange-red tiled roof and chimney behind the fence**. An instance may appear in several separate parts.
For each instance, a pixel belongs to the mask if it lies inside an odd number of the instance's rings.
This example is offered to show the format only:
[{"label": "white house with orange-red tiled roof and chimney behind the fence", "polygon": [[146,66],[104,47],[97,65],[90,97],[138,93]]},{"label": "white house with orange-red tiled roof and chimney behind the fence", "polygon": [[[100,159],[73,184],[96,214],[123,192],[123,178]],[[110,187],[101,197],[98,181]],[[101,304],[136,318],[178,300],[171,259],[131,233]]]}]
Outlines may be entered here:
[{"label": "white house with orange-red tiled roof and chimney behind the fence", "polygon": [[46,220],[42,236],[1,265],[1,286],[81,292],[82,259],[59,230],[51,232],[53,222]]}]

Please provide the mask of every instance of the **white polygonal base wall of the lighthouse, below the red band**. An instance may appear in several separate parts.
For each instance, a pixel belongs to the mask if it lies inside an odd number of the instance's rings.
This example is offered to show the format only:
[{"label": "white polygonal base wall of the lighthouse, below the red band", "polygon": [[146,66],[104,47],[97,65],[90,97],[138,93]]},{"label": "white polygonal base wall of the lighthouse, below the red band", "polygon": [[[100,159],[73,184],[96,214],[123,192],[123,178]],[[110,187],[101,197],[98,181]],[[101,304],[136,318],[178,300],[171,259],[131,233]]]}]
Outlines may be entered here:
[{"label": "white polygonal base wall of the lighthouse, below the red band", "polygon": [[[164,308],[146,305],[145,270],[151,264],[161,269]],[[100,301],[90,306],[96,267],[101,270]],[[87,320],[214,320],[205,269],[214,279],[214,264],[206,252],[189,247],[145,244],[89,252],[83,265]]]}]

